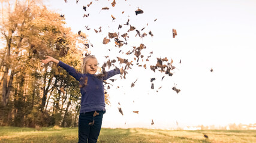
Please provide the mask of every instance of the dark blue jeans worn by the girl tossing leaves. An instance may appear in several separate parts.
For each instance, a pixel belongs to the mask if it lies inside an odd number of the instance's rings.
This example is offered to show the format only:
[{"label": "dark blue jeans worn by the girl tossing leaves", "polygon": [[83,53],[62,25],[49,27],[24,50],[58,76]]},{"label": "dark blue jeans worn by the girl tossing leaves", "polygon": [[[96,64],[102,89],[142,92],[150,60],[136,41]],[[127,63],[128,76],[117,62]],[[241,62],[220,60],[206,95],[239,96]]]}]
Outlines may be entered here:
[{"label": "dark blue jeans worn by the girl tossing leaves", "polygon": [[[103,121],[103,114],[106,111],[97,111],[99,113],[94,117],[94,112],[80,113],[79,115],[79,143],[97,142],[101,131],[101,124]],[[94,121],[93,125],[92,122]]]}]

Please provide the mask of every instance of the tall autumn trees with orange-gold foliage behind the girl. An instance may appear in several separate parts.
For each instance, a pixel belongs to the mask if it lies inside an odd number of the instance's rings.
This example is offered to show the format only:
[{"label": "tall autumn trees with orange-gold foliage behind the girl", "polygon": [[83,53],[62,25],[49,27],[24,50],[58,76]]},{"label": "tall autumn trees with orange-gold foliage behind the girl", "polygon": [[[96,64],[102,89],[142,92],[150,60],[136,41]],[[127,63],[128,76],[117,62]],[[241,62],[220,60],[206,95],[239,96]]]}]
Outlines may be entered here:
[{"label": "tall autumn trees with orange-gold foliage behind the girl", "polygon": [[77,126],[79,82],[41,60],[50,55],[80,70],[85,33],[34,0],[1,0],[0,23],[0,126]]}]

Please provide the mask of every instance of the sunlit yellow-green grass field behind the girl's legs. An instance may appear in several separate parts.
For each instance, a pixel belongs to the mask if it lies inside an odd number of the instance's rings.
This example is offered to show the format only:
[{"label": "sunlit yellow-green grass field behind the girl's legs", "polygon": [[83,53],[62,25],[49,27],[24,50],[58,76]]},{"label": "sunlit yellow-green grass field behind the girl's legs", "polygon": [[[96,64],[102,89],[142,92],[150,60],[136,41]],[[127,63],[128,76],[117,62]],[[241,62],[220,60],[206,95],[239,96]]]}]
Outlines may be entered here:
[{"label": "sunlit yellow-green grass field behind the girl's legs", "polygon": [[[204,134],[209,136],[205,138]],[[0,142],[77,142],[78,128],[0,127]],[[256,130],[101,129],[98,142],[256,142]]]}]

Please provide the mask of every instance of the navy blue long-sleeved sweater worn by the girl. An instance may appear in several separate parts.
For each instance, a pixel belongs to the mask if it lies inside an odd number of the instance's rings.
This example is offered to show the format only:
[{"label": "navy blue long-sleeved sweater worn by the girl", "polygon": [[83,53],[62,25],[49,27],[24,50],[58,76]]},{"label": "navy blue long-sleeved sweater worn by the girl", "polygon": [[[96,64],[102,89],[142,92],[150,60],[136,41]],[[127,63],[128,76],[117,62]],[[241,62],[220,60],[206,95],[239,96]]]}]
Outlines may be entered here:
[{"label": "navy blue long-sleeved sweater worn by the girl", "polygon": [[95,74],[79,73],[73,67],[68,66],[68,64],[63,63],[62,61],[59,61],[58,66],[65,69],[71,76],[78,80],[80,85],[84,85],[87,77],[87,84],[80,88],[82,94],[80,113],[106,110],[103,80],[107,80],[110,77],[119,74],[120,69],[107,71],[106,76],[99,79]]}]

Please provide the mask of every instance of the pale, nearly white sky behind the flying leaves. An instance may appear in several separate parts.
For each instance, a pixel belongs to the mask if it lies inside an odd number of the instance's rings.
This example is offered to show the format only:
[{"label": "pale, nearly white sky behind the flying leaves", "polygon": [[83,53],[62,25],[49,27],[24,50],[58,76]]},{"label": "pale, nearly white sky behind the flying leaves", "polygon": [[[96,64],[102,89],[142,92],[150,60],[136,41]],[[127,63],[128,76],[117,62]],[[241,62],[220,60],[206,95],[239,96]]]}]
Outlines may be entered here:
[{"label": "pale, nearly white sky behind the flying leaves", "polygon": [[[92,5],[86,11],[83,5],[91,1],[80,0],[78,4],[67,1],[46,4],[65,14],[67,26],[73,32],[82,30],[88,35],[94,45],[90,50],[100,63],[104,63],[104,55],[134,57],[118,53],[114,39],[107,45],[102,43],[109,32],[126,33],[129,26],[124,24],[129,18],[131,26],[139,30],[146,27],[143,32],[151,30],[153,37],[147,35],[141,39],[135,37],[135,30],[128,32],[128,45],[121,49],[125,51],[143,43],[147,47],[142,52],[144,55],[153,51],[150,64],[156,64],[156,57],[167,57],[173,59],[176,67],[171,77],[153,73],[149,63],[146,63],[147,70],[135,66],[128,70],[127,79],[113,77],[118,80],[108,90],[111,105],[106,107],[104,128],[167,129],[177,128],[176,121],[180,127],[256,123],[256,1],[116,0],[112,7],[112,1],[91,0]],[[101,10],[103,7],[110,9]],[[135,15],[137,8],[144,13]],[[88,13],[89,17],[83,18]],[[116,20],[112,21],[111,15]],[[122,29],[118,30],[119,24]],[[103,32],[95,33],[94,29],[100,26]],[[177,30],[176,38],[172,37],[172,29]],[[162,76],[165,76],[163,80]],[[155,89],[150,88],[152,77],[156,77]],[[131,82],[136,79],[131,88]],[[181,90],[179,94],[171,89],[174,84]],[[138,114],[132,113],[136,110]],[[150,124],[152,119],[155,125]]]}]

